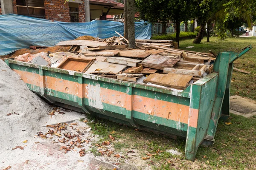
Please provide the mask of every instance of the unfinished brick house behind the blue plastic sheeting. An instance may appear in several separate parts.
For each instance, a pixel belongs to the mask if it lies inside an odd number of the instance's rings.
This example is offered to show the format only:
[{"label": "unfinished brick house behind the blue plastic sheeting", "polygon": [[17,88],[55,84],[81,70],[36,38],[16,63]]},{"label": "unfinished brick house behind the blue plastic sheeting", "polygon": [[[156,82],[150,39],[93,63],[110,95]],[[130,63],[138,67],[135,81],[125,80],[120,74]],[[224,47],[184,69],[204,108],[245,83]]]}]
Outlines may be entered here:
[{"label": "unfinished brick house behind the blue plastic sheeting", "polygon": [[[0,0],[3,14],[19,14],[72,23],[85,22],[86,0]],[[12,8],[12,9],[11,9]],[[122,16],[124,5],[115,0],[89,0],[90,20]]]}]

